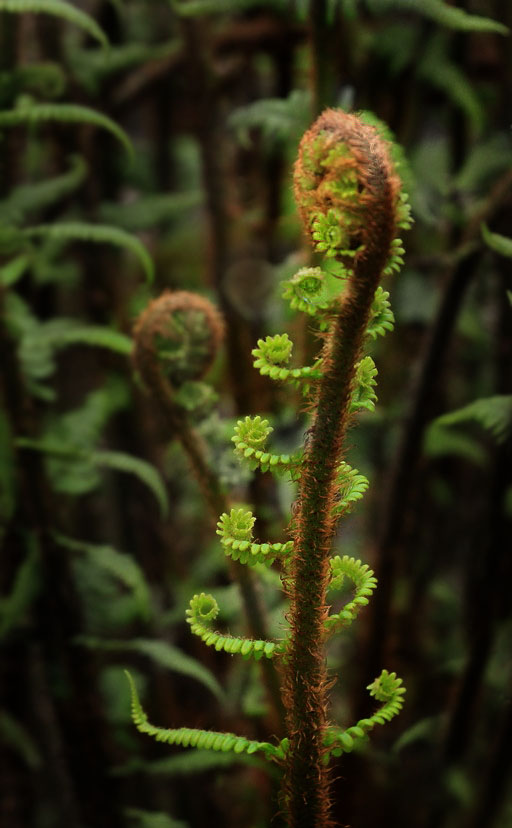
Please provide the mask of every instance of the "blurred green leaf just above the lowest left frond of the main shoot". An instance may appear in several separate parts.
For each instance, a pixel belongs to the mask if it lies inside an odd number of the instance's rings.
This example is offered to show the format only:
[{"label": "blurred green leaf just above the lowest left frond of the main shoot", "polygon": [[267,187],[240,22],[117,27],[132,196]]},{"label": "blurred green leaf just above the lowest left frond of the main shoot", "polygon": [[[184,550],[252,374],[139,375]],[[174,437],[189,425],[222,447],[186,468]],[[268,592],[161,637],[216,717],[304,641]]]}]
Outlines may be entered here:
[{"label": "blurred green leaf just above the lowest left frond of the main shoot", "polygon": [[220,701],[224,699],[224,691],[213,673],[204,667],[200,661],[186,655],[167,641],[158,641],[151,638],[132,638],[130,641],[117,641],[85,636],[80,638],[80,643],[94,649],[140,653],[160,665],[160,667],[165,667],[166,670],[196,679]]}]

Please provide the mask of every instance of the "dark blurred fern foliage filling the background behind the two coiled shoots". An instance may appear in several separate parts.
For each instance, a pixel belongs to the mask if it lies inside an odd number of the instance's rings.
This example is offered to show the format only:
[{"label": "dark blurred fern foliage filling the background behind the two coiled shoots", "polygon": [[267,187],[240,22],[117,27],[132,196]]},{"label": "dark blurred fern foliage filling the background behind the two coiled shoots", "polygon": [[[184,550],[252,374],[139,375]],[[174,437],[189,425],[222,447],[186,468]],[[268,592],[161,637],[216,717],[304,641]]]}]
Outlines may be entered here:
[{"label": "dark blurred fern foliage filling the background behind the two coiled shoots", "polygon": [[[340,761],[334,816],[512,824],[511,26],[508,0],[0,0],[3,828],[263,828],[277,809],[277,771],[130,721],[126,667],[157,724],[281,735],[258,665],[185,624],[204,589],[246,630],[131,335],[163,289],[221,310],[209,387],[181,402],[221,486],[283,539],[292,486],[252,479],[230,437],[251,413],[282,451],[307,429],[250,350],[288,329],[314,353],[280,283],[309,263],[290,170],[325,106],[388,124],[415,219],[379,404],[350,435],[371,486],[337,541],[379,588],[329,651],[337,723],[367,715],[383,665],[406,706]],[[277,572],[261,597],[279,637]]]}]

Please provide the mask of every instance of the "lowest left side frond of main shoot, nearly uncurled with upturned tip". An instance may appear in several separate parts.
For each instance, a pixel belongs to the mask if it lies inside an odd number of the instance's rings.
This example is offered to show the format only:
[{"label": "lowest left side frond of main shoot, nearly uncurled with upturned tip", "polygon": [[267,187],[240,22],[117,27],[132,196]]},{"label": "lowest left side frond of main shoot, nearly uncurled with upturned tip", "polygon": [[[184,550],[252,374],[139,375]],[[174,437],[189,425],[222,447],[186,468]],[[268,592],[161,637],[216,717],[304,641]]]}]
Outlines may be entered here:
[{"label": "lowest left side frond of main shoot, nearly uncurled with upturned tip", "polygon": [[139,700],[135,682],[128,670],[125,670],[126,677],[130,683],[130,696],[132,719],[137,730],[147,733],[157,742],[165,742],[169,745],[181,745],[182,747],[194,747],[200,750],[220,750],[224,753],[263,753],[266,759],[272,759],[277,755],[277,748],[269,742],[256,742],[246,739],[244,736],[236,736],[234,733],[219,733],[214,730],[197,730],[195,728],[180,727],[177,729],[164,729],[155,727],[148,722]]}]

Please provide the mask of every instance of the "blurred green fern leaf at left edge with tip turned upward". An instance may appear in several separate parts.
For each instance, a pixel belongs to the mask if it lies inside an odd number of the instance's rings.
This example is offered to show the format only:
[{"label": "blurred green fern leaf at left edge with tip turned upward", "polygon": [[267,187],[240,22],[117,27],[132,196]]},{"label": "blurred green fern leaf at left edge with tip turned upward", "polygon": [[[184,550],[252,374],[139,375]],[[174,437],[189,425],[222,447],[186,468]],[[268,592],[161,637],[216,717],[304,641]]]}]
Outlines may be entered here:
[{"label": "blurred green fern leaf at left edge with tip turned upward", "polygon": [[21,224],[27,215],[43,210],[76,190],[85,179],[87,166],[78,155],[70,159],[68,172],[16,187],[6,201],[0,202],[0,220],[7,224]]}]

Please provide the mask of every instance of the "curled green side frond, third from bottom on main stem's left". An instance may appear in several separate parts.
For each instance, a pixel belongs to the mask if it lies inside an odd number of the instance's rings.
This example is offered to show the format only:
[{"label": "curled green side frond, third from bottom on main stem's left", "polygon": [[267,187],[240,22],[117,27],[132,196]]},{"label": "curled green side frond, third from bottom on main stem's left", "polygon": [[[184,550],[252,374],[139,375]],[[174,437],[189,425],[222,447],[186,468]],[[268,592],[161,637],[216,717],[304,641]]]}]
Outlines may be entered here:
[{"label": "curled green side frond, third from bottom on main stem's left", "polygon": [[258,563],[271,566],[276,558],[288,556],[293,549],[293,541],[287,543],[254,543],[252,529],[256,518],[249,509],[235,508],[224,512],[217,523],[217,534],[226,555],[243,564]]}]

